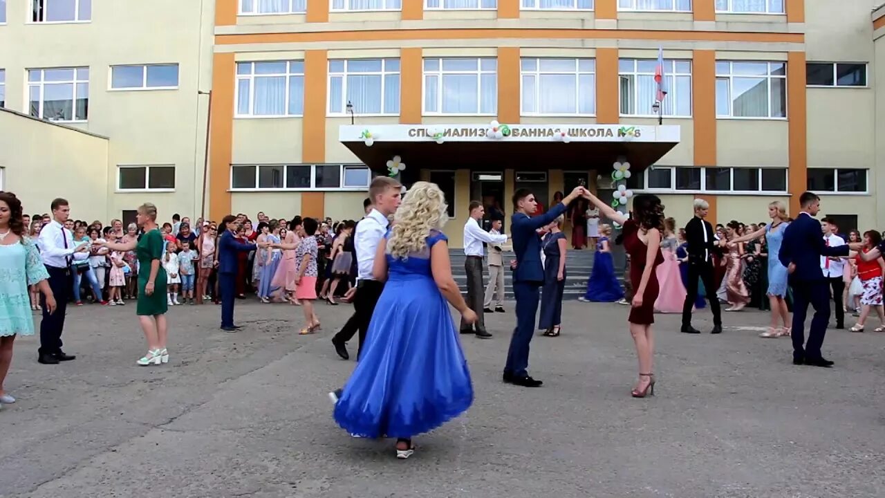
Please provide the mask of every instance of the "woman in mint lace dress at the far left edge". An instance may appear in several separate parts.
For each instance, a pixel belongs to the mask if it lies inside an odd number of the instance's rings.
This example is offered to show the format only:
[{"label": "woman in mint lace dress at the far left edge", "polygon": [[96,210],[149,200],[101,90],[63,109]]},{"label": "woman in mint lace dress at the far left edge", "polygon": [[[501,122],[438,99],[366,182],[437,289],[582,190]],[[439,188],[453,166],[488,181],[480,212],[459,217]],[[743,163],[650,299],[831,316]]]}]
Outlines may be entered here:
[{"label": "woman in mint lace dress at the far left edge", "polygon": [[21,202],[12,192],[0,192],[0,408],[14,403],[4,391],[4,380],[12,364],[12,343],[19,334],[34,334],[34,315],[28,286],[36,285],[46,296],[47,310],[56,302],[34,241],[25,237]]}]

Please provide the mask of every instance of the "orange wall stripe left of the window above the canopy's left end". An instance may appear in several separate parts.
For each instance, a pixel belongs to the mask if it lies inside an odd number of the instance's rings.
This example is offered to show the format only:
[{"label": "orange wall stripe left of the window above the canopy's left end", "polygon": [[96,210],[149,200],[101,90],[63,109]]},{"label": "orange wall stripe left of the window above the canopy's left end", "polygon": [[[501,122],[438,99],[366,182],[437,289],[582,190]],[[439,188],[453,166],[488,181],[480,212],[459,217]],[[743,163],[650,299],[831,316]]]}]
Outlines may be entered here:
[{"label": "orange wall stripe left of the window above the canopy's left end", "polygon": [[304,123],[301,160],[322,163],[326,160],[326,80],[327,51],[304,52]]}]

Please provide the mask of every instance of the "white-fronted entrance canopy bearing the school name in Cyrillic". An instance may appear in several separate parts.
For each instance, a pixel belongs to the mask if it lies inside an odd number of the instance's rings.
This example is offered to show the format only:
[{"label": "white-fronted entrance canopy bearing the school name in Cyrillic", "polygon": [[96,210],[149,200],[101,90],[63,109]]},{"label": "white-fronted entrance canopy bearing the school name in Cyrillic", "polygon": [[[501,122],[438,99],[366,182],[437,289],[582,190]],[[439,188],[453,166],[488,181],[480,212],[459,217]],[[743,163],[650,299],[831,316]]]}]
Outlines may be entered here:
[{"label": "white-fronted entrance canopy bearing the school name in Cyrillic", "polygon": [[426,169],[611,169],[620,157],[643,171],[680,141],[676,125],[344,125],[339,140],[375,171],[400,156]]}]

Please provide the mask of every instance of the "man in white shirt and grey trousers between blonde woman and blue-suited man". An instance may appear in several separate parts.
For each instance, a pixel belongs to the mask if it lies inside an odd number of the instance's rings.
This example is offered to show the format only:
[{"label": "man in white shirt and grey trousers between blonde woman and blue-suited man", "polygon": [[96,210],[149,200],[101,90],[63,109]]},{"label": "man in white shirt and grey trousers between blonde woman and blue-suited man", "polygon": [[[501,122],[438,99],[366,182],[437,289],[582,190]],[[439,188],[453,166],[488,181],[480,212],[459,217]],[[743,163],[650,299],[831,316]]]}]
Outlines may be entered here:
[{"label": "man in white shirt and grey trousers between blonde woman and blue-suited man", "polygon": [[[482,285],[482,243],[486,244],[504,244],[507,242],[506,235],[495,235],[482,230],[479,220],[485,214],[485,208],[478,200],[470,202],[470,216],[464,224],[464,269],[467,272],[467,306],[476,313],[476,337],[491,338],[492,335],[486,331],[486,323],[483,319],[483,300],[485,294]],[[473,325],[466,323],[461,319],[461,333],[472,334]]]}]

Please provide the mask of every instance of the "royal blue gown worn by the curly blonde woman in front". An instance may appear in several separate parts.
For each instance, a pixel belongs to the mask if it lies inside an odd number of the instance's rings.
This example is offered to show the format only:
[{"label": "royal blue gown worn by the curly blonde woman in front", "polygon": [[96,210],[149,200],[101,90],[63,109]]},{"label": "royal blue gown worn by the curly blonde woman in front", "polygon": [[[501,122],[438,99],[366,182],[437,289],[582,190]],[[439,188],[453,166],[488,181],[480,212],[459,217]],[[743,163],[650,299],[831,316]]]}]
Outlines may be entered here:
[{"label": "royal blue gown worn by the curly blonde woman in front", "polygon": [[335,422],[366,438],[412,438],[466,411],[473,384],[449,303],[430,271],[427,252],[395,260],[372,315],[356,370],[335,404]]}]

